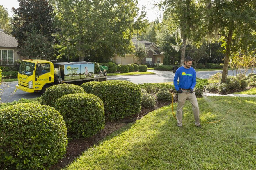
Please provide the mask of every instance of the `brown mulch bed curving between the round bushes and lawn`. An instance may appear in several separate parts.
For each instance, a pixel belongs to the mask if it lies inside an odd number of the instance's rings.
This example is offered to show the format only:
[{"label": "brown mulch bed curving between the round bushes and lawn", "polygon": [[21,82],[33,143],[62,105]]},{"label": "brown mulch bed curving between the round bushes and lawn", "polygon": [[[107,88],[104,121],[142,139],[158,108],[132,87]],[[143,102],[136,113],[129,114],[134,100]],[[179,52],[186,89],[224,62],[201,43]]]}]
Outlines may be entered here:
[{"label": "brown mulch bed curving between the round bushes and lawn", "polygon": [[[175,96],[173,99],[173,102],[177,102],[177,97]],[[103,140],[106,136],[109,134],[115,132],[116,130],[120,129],[121,127],[124,127],[127,125],[127,123],[135,122],[136,120],[139,120],[143,118],[146,114],[149,112],[159,109],[163,106],[171,104],[170,102],[163,102],[163,101],[156,101],[156,105],[152,109],[145,109],[142,108],[139,114],[127,117],[122,120],[114,121],[114,122],[106,122],[105,128],[102,129],[99,134],[94,135],[90,138],[85,139],[74,139],[72,141],[68,142],[67,146],[67,153],[65,154],[65,157],[57,164],[52,166],[50,169],[61,169],[67,166],[68,164],[72,163],[77,157],[79,157],[84,151],[86,151],[88,148],[92,147],[93,145],[97,144],[99,141]]]}]

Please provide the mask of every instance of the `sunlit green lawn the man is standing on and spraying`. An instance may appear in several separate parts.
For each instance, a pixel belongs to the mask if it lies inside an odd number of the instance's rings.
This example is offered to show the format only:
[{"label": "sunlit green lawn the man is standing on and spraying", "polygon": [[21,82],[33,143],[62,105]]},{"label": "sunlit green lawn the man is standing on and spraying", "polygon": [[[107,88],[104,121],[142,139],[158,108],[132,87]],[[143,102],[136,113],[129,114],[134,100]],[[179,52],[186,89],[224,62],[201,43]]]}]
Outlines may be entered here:
[{"label": "sunlit green lawn the man is standing on and spraying", "polygon": [[256,169],[256,98],[213,96],[198,103],[201,123],[234,108],[221,122],[198,129],[187,101],[180,129],[171,107],[162,107],[88,149],[67,169]]}]

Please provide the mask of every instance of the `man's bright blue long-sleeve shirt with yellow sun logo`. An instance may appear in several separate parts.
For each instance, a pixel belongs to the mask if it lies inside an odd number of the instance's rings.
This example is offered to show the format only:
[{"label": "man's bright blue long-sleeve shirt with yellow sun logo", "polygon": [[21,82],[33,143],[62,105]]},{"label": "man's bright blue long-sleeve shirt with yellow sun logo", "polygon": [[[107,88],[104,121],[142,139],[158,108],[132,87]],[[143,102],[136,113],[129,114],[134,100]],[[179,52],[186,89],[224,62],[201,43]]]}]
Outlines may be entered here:
[{"label": "man's bright blue long-sleeve shirt with yellow sun logo", "polygon": [[[179,85],[178,80],[179,78]],[[179,89],[194,89],[196,85],[196,72],[193,67],[185,68],[185,67],[179,67],[176,72],[175,76],[173,78],[173,84],[175,89],[178,91]]]}]

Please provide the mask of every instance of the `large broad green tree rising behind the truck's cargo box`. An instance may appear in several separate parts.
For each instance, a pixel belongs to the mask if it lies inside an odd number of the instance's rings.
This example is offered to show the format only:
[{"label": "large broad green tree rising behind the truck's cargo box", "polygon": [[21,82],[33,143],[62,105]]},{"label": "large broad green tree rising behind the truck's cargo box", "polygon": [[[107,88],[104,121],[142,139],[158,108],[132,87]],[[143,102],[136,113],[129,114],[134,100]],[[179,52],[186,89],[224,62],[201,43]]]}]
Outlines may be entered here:
[{"label": "large broad green tree rising behind the truck's cargo box", "polygon": [[[109,61],[133,50],[132,35],[145,27],[136,0],[56,0],[55,23],[61,44],[75,50],[79,61]],[[134,19],[137,17],[137,20]]]}]

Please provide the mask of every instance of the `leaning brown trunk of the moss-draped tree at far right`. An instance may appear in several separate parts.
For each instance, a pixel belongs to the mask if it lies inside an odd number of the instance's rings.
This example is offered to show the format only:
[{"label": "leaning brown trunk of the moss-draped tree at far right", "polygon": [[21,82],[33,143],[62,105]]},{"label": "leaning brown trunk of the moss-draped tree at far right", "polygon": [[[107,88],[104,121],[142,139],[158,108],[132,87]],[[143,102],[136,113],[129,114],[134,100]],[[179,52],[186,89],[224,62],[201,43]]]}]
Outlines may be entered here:
[{"label": "leaning brown trunk of the moss-draped tree at far right", "polygon": [[225,36],[226,40],[227,40],[227,46],[226,46],[226,52],[225,52],[225,59],[224,59],[224,66],[223,66],[223,71],[222,71],[221,83],[225,83],[225,81],[227,79],[228,62],[229,62],[229,56],[230,56],[232,35],[233,35],[233,30],[229,30],[228,31],[228,36]]}]

